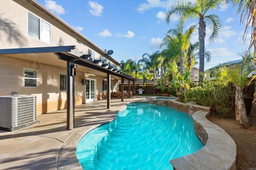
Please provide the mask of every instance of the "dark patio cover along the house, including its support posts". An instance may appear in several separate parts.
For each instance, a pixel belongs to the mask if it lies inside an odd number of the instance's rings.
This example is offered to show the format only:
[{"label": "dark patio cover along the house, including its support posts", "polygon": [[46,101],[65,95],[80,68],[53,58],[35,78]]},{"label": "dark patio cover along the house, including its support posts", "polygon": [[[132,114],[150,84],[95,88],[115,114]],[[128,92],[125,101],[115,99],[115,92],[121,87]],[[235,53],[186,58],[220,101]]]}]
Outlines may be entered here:
[{"label": "dark patio cover along the house, including its support posts", "polygon": [[[75,86],[74,76],[71,74],[71,68],[74,64],[78,64],[77,71],[85,72],[86,68],[90,68],[98,76],[104,76],[108,79],[108,92],[107,92],[107,108],[110,108],[110,78],[120,78],[122,80],[136,81],[135,78],[121,72],[113,71],[110,67],[95,64],[90,59],[86,59],[84,54],[75,51],[75,45],[72,46],[58,46],[58,47],[33,47],[33,48],[19,48],[19,49],[0,49],[0,55],[5,57],[12,57],[34,63],[41,63],[50,66],[65,68],[67,71],[67,129],[74,128],[74,98]],[[122,101],[123,101],[122,95]]]}]

